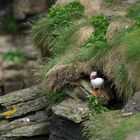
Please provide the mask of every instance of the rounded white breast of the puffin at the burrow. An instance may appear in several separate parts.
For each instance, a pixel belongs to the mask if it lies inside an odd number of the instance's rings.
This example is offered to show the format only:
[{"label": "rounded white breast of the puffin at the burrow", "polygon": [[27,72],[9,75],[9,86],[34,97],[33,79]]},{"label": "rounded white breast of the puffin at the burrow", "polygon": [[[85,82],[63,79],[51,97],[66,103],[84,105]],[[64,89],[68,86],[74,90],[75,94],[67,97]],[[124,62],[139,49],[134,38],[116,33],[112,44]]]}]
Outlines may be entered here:
[{"label": "rounded white breast of the puffin at the burrow", "polygon": [[104,85],[104,79],[103,78],[92,79],[91,84],[94,88],[101,88]]}]

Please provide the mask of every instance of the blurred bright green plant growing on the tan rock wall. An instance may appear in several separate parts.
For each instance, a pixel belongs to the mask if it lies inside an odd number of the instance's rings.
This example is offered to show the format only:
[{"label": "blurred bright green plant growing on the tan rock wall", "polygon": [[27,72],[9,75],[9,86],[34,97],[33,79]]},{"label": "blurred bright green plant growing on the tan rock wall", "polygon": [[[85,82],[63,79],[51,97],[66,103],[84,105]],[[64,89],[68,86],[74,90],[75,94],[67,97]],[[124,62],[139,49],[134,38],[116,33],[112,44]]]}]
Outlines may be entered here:
[{"label": "blurred bright green plant growing on the tan rock wall", "polygon": [[9,51],[4,54],[4,60],[13,61],[20,64],[25,63],[27,61],[27,57],[23,52]]}]

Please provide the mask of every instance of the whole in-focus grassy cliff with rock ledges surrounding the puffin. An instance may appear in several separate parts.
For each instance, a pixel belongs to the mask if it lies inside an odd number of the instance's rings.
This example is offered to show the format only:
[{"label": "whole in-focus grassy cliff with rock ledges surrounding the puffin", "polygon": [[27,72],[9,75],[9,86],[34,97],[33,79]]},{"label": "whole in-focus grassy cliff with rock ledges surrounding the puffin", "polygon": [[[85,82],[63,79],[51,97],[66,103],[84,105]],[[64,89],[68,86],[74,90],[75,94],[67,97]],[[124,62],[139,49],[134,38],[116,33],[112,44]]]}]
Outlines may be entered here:
[{"label": "whole in-focus grassy cliff with rock ledges surrounding the puffin", "polygon": [[[87,139],[124,140],[140,133],[139,114],[133,115],[139,111],[140,29],[126,17],[128,1],[112,9],[103,1],[68,2],[58,0],[61,6],[32,27],[34,42],[47,58],[36,73],[41,86],[0,98],[2,140],[86,140],[83,130]],[[93,70],[105,79],[98,100],[89,80]],[[119,108],[133,94],[123,110],[131,113],[104,112],[103,105]]]}]

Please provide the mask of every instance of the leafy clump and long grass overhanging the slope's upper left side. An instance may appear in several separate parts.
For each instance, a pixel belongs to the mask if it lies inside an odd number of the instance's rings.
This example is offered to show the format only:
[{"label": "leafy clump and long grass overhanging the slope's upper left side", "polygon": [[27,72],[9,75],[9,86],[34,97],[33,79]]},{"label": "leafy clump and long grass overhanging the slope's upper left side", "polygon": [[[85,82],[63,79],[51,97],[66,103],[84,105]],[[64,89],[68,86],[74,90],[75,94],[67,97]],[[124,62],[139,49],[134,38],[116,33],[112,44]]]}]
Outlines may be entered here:
[{"label": "leafy clump and long grass overhanging the slope's upper left side", "polygon": [[37,69],[39,80],[62,59],[66,51],[76,46],[76,31],[88,24],[87,20],[77,21],[83,14],[83,5],[79,1],[73,1],[64,7],[53,6],[48,16],[33,25],[33,40],[49,60]]}]

